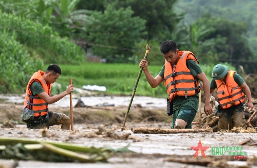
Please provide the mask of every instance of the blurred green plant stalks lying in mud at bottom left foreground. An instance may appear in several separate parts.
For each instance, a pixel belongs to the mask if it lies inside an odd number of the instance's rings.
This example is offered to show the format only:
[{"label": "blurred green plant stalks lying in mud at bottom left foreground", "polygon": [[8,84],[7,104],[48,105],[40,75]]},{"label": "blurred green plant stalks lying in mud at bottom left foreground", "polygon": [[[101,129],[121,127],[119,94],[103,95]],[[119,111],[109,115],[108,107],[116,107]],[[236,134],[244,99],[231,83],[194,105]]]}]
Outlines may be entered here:
[{"label": "blurred green plant stalks lying in mud at bottom left foreground", "polygon": [[129,145],[119,149],[85,147],[69,143],[0,138],[0,158],[50,162],[107,162],[118,152],[132,152]]}]

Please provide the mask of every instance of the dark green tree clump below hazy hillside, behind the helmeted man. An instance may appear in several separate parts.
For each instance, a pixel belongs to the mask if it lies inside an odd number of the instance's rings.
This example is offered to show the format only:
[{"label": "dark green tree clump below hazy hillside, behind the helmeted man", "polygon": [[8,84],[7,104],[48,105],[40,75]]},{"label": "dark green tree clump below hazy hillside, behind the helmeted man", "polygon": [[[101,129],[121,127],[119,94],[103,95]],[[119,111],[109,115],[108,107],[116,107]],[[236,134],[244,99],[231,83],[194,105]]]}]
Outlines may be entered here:
[{"label": "dark green tree clump below hazy hillside, behind the helmeted man", "polygon": [[[223,38],[223,41],[216,40],[214,44],[219,61],[230,62],[236,68],[242,65],[248,73],[256,69],[254,64],[249,63],[249,60],[254,61],[255,58],[252,50],[247,45],[246,33],[248,25],[245,22],[214,18],[210,14],[206,14],[198,19],[197,24],[206,25],[206,27],[214,29],[205,39]],[[221,42],[221,44],[217,42]]]}]

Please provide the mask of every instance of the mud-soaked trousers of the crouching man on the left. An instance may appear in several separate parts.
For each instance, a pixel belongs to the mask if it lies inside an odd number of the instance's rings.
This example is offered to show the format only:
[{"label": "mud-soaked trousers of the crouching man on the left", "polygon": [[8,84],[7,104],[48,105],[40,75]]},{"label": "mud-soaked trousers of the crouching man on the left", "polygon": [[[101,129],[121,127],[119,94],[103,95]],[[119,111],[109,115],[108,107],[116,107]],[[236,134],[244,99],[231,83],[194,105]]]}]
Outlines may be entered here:
[{"label": "mud-soaked trousers of the crouching man on the left", "polygon": [[[49,126],[59,125],[65,114],[48,111]],[[27,123],[28,129],[45,129],[47,127],[47,115],[34,117],[34,122]]]}]

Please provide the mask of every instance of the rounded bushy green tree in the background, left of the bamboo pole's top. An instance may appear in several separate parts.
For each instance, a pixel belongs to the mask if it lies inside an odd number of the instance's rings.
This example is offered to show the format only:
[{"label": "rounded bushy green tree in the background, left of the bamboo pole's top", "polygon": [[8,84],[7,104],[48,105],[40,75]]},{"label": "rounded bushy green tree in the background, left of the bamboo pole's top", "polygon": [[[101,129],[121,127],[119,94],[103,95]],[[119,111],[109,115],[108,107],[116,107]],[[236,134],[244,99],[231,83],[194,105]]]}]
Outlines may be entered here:
[{"label": "rounded bushy green tree in the background, left of the bamboo pole's top", "polygon": [[95,21],[86,27],[84,36],[93,43],[90,52],[109,63],[128,61],[135,42],[146,34],[145,20],[132,15],[130,7],[114,10],[111,4],[107,5],[104,13],[95,11],[92,14]]}]

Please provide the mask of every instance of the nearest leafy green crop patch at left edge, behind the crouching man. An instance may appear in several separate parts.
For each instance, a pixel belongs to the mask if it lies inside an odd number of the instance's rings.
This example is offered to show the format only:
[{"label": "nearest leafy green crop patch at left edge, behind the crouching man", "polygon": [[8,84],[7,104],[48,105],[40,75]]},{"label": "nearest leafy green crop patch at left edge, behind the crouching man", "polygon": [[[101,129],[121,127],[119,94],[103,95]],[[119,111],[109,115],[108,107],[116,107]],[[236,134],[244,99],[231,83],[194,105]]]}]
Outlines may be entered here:
[{"label": "nearest leafy green crop patch at left edge, behind the crouching man", "polygon": [[30,55],[17,36],[0,33],[0,93],[18,93],[26,89],[31,75],[43,67],[43,60]]}]

